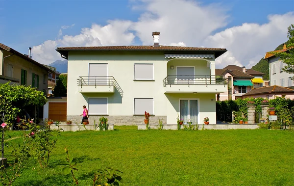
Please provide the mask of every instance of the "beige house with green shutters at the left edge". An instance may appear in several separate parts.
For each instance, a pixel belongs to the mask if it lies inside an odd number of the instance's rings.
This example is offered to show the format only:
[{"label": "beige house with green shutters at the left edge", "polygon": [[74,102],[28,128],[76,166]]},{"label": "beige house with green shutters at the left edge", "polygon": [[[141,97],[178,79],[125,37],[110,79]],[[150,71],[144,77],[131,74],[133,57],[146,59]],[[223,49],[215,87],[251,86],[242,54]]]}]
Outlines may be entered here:
[{"label": "beige house with green shutters at the left edge", "polygon": [[0,43],[0,83],[31,85],[47,95],[48,72],[53,71],[31,59],[30,49],[25,55]]}]

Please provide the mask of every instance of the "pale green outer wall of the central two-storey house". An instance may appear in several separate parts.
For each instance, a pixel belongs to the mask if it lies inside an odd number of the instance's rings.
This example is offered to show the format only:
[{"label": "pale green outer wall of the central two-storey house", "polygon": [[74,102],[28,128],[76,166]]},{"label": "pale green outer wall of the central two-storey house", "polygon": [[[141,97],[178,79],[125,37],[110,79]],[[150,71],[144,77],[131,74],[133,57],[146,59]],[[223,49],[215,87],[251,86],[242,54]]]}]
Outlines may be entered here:
[{"label": "pale green outer wall of the central two-storey house", "polygon": [[[114,93],[77,92],[77,79],[80,76],[89,76],[89,63],[107,63],[108,76],[115,78],[123,92],[119,92],[117,89],[115,89]],[[154,81],[134,80],[134,63],[153,63]],[[173,71],[169,65],[174,65]],[[107,97],[107,114],[109,115],[107,118],[109,123],[136,125],[143,122],[144,116],[134,116],[134,98],[153,98],[155,116],[150,117],[150,123],[158,123],[158,119],[163,119],[163,123],[176,124],[175,118],[177,117],[177,112],[179,112],[179,106],[175,106],[174,102],[176,101],[174,99],[178,99],[179,104],[179,98],[196,97],[194,94],[170,96],[164,93],[163,80],[168,73],[175,75],[176,66],[196,66],[196,75],[210,75],[210,69],[209,66],[207,67],[205,60],[172,60],[167,65],[167,59],[163,53],[138,53],[135,55],[127,52],[70,52],[68,60],[67,119],[80,122],[81,116],[79,115],[83,111],[82,106],[88,107],[89,98]],[[199,117],[210,117],[211,122],[216,122],[215,94],[199,94],[197,96],[200,99]],[[214,99],[214,101],[211,101],[211,99]],[[214,104],[207,104],[208,101]],[[94,122],[94,119],[98,121],[99,115],[91,115],[91,110],[89,110],[89,114],[91,123]]]}]

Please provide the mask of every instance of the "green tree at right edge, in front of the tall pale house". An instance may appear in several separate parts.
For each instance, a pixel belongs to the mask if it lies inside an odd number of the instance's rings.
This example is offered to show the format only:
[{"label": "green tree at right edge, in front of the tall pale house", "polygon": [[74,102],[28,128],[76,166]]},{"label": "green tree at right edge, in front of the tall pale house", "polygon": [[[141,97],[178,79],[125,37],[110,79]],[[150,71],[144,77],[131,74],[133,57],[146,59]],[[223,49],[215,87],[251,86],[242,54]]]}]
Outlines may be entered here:
[{"label": "green tree at right edge, in front of the tall pale house", "polygon": [[[276,56],[280,57],[280,61],[286,64],[283,70],[289,74],[294,74],[294,25],[288,27],[288,34],[287,37],[289,38],[289,42],[287,44],[287,51],[274,53]],[[294,76],[292,77],[294,80]]]}]

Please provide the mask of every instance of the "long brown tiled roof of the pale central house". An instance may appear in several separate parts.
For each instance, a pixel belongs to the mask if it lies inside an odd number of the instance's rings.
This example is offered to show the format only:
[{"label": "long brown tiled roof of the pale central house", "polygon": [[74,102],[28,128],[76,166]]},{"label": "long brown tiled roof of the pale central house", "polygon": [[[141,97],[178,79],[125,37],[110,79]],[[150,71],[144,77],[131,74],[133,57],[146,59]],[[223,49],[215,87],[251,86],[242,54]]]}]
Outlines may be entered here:
[{"label": "long brown tiled roof of the pale central house", "polygon": [[214,53],[215,58],[225,53],[226,49],[221,48],[200,48],[200,47],[177,47],[177,46],[102,46],[102,47],[58,47],[57,52],[68,57],[69,51],[162,51],[166,53]]}]

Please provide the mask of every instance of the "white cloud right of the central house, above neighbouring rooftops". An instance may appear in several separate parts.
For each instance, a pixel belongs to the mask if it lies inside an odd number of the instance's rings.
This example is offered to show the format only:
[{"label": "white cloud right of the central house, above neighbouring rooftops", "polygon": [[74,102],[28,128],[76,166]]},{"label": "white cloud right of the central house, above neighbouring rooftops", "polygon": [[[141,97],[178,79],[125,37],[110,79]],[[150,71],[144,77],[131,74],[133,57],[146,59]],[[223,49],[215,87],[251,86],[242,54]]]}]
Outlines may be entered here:
[{"label": "white cloud right of the central house, above neighbouring rooftops", "polygon": [[228,64],[245,65],[251,68],[266,52],[274,50],[287,41],[287,27],[294,23],[293,12],[270,15],[266,24],[244,23],[208,36],[206,47],[226,48],[228,54],[217,58],[217,67]]}]

